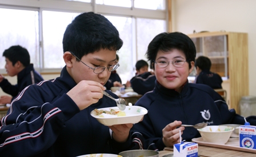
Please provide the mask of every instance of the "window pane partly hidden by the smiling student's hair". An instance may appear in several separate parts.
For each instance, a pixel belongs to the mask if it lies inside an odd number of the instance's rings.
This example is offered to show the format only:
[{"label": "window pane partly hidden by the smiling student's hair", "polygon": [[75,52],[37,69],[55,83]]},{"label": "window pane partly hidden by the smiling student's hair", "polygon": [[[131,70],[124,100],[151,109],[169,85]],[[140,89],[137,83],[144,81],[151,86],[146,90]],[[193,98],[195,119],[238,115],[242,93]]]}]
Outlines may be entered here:
[{"label": "window pane partly hidden by the smiling student's hair", "polygon": [[166,21],[160,19],[137,19],[137,60],[146,59],[147,46],[159,33],[166,31]]}]

